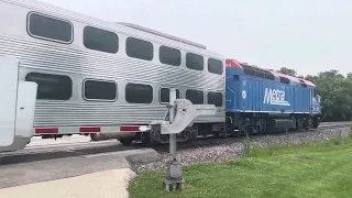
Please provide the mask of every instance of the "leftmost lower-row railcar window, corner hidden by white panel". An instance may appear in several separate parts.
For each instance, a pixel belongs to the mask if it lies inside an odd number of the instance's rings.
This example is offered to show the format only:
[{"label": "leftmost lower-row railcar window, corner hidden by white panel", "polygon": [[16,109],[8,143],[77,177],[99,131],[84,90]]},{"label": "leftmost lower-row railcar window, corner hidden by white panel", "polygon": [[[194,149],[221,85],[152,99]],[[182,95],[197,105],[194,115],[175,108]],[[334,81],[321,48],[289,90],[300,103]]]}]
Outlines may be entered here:
[{"label": "leftmost lower-row railcar window, corner hidden by white panel", "polygon": [[25,81],[37,84],[37,99],[68,100],[73,95],[73,81],[68,76],[29,73]]}]

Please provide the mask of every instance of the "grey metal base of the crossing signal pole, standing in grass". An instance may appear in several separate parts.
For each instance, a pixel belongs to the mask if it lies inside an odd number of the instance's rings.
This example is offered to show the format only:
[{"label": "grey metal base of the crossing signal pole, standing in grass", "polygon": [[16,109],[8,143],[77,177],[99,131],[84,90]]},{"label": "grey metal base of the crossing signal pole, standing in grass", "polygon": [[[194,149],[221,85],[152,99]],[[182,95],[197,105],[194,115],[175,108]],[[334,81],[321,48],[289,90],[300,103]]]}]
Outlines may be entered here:
[{"label": "grey metal base of the crossing signal pole, standing in grass", "polygon": [[180,163],[177,161],[169,162],[167,165],[167,176],[164,179],[165,191],[184,189],[184,184]]}]

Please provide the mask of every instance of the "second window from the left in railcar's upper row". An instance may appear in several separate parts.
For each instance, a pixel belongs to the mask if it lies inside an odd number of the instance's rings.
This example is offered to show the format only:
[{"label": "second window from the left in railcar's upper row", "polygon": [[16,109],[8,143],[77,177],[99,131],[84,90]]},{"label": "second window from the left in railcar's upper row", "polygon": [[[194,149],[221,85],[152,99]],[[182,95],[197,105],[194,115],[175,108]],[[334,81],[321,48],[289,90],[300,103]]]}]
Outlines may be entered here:
[{"label": "second window from the left in railcar's upper row", "polygon": [[84,30],[84,45],[94,51],[116,54],[119,51],[119,36],[113,32],[86,26]]}]

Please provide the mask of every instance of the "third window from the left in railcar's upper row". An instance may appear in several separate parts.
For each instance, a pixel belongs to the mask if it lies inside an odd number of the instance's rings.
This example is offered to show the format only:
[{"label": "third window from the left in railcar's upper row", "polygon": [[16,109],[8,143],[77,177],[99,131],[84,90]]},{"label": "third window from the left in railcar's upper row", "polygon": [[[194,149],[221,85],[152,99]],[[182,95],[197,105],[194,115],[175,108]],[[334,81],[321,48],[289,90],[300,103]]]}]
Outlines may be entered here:
[{"label": "third window from the left in railcar's upper row", "polygon": [[130,57],[145,61],[152,61],[154,56],[153,44],[135,37],[128,37],[125,43],[125,52]]}]

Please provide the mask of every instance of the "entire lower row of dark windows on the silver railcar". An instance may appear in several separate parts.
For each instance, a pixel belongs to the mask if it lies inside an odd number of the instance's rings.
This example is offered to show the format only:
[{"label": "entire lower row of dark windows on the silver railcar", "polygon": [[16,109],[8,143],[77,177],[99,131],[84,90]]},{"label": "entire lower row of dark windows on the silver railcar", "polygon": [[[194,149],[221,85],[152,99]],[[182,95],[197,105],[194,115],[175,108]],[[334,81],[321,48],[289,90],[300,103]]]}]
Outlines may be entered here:
[{"label": "entire lower row of dark windows on the silver railcar", "polygon": [[[68,100],[73,92],[73,81],[68,76],[29,73],[26,81],[35,81],[38,85],[37,99]],[[109,80],[86,79],[82,86],[85,100],[116,101],[118,99],[118,84]],[[176,89],[176,97],[179,98],[179,90]],[[186,99],[195,105],[204,103],[201,90],[186,90]],[[129,103],[152,103],[153,88],[150,85],[132,84],[125,86],[125,100]],[[169,89],[160,89],[160,102],[169,101]],[[208,103],[216,107],[222,106],[221,92],[208,92]]]}]

